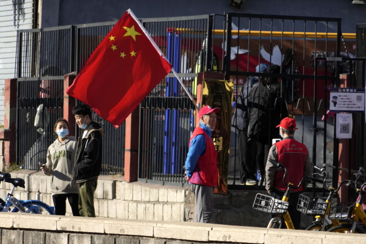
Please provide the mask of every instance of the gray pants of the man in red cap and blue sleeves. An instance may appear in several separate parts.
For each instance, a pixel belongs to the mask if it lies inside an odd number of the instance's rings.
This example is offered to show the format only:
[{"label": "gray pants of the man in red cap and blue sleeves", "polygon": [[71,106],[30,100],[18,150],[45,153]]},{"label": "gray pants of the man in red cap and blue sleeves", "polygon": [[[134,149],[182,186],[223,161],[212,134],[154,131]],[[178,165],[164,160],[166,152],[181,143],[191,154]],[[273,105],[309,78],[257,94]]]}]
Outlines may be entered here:
[{"label": "gray pants of the man in red cap and blue sleeves", "polygon": [[213,187],[192,184],[195,197],[194,222],[209,223],[213,214]]}]

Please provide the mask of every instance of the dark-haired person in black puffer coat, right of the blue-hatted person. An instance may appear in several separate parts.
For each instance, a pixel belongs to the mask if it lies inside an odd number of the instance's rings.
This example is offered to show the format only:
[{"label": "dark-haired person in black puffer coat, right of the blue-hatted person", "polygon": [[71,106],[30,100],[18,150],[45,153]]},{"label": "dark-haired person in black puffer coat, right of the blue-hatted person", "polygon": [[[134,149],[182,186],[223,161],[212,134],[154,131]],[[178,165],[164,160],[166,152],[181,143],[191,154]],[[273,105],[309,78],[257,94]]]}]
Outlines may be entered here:
[{"label": "dark-haired person in black puffer coat, right of the blue-hatted person", "polygon": [[[272,64],[267,67],[267,73],[279,74],[280,66]],[[265,178],[265,160],[268,156],[272,139],[278,137],[276,125],[288,116],[284,91],[277,77],[261,78],[260,82],[253,85],[248,99],[249,125],[248,140],[252,140],[257,146],[255,160],[259,169],[259,185]]]}]

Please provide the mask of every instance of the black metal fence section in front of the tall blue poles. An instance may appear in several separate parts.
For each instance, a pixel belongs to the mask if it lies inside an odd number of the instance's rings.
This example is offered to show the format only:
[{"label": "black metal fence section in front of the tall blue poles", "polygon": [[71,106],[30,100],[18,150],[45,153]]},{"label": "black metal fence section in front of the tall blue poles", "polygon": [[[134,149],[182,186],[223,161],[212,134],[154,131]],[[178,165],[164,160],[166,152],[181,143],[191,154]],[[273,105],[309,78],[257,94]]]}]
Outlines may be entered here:
[{"label": "black metal fence section in front of the tall blue poles", "polygon": [[[216,23],[217,22],[217,23]],[[197,73],[220,70],[212,49],[222,15],[142,19],[158,47],[195,97]],[[222,38],[222,36],[221,36]],[[169,74],[140,104],[139,180],[184,184],[184,162],[195,128],[195,106]]]}]

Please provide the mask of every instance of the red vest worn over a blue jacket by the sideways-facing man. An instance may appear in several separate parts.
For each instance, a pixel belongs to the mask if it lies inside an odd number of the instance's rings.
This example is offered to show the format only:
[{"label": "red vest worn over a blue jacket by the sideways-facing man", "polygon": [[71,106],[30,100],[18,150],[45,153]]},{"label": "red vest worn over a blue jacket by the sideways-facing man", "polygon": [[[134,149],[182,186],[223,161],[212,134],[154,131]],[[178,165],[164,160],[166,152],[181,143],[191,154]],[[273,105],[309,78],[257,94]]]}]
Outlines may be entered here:
[{"label": "red vest worn over a blue jacket by the sideways-facing man", "polygon": [[191,146],[193,137],[199,134],[203,134],[206,138],[206,152],[202,156],[199,156],[196,168],[188,182],[216,187],[217,181],[219,180],[219,169],[217,167],[217,151],[211,138],[201,127],[196,127],[189,140],[189,146]]}]

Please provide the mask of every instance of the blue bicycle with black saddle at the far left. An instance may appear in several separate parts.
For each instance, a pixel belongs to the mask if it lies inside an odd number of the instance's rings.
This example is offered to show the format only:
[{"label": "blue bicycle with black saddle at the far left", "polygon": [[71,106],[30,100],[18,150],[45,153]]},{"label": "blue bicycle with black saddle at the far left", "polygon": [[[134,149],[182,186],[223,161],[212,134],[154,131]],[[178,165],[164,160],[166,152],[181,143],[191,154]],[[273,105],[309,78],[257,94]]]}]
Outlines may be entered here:
[{"label": "blue bicycle with black saddle at the far left", "polygon": [[[0,173],[0,181],[5,181],[13,185],[11,191],[7,194],[0,212],[26,212],[33,214],[51,214],[54,215],[54,207],[48,206],[39,200],[18,200],[13,196],[15,187],[25,188],[25,182],[22,178],[10,178],[9,173]],[[11,209],[11,207],[13,207]]]}]

